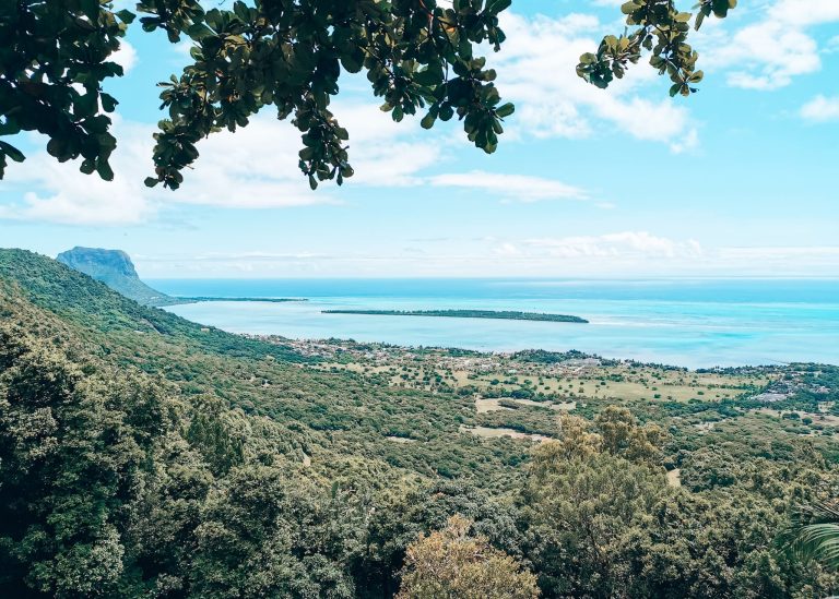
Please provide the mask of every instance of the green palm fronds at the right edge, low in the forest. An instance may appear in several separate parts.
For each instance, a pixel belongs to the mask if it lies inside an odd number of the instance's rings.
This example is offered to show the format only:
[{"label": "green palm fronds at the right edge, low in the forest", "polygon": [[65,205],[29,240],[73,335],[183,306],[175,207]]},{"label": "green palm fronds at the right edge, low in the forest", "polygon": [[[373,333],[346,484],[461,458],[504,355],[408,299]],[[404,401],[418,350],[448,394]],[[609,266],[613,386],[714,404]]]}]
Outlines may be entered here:
[{"label": "green palm fronds at the right edge, low in the forest", "polygon": [[839,570],[839,506],[813,503],[803,506],[781,537],[784,548],[803,562],[815,560]]}]

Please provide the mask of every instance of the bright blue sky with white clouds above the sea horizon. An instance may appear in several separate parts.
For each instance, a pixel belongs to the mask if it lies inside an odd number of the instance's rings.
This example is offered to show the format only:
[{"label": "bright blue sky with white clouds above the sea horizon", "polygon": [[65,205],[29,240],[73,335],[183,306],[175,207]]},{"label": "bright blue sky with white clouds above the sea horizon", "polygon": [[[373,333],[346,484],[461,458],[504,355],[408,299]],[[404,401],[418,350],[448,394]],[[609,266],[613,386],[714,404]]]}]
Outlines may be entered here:
[{"label": "bright blue sky with white clouds above the sea horizon", "polygon": [[[270,107],[201,142],[180,190],[149,190],[155,83],[189,46],[134,25],[107,83],[110,183],[46,140],[0,181],[0,247],[122,249],[146,278],[839,277],[839,1],[741,0],[693,35],[706,77],[670,98],[646,63],[608,89],[582,52],[624,25],[615,0],[513,0],[487,58],[517,106],[498,151],[457,121],[393,123],[363,76],[332,106],[356,175],[312,192],[299,132]],[[693,0],[677,1],[689,10]]]}]

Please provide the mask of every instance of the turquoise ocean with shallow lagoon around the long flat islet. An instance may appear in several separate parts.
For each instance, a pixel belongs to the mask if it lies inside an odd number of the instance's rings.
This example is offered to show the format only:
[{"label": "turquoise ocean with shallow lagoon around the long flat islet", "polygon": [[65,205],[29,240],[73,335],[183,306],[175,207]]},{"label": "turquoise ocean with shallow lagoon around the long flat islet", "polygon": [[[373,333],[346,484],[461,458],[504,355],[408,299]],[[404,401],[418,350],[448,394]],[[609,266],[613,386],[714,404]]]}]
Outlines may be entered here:
[{"label": "turquoise ocean with shallow lagoon around the long flat islet", "polygon": [[[174,296],[305,298],[167,310],[235,333],[483,351],[578,349],[687,368],[839,363],[839,279],[158,279]],[[521,310],[590,324],[322,314]]]}]

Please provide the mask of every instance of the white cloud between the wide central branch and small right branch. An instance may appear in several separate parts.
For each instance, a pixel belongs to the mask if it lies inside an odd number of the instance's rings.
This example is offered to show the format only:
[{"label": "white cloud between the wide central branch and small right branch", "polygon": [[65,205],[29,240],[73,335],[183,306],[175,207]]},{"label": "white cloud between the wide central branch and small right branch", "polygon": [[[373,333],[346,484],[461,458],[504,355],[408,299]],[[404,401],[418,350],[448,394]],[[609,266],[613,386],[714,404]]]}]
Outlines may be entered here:
[{"label": "white cloud between the wide central branch and small right branch", "polygon": [[[696,129],[685,108],[665,95],[661,80],[645,64],[630,69],[622,81],[599,89],[577,76],[580,55],[598,47],[606,33],[592,15],[559,19],[524,17],[505,13],[507,41],[491,58],[498,86],[517,105],[508,129],[518,137],[580,139],[596,131],[618,130],[633,137],[662,142],[684,151],[696,145]],[[655,99],[640,94],[654,82]],[[685,142],[686,137],[693,141]]]}]

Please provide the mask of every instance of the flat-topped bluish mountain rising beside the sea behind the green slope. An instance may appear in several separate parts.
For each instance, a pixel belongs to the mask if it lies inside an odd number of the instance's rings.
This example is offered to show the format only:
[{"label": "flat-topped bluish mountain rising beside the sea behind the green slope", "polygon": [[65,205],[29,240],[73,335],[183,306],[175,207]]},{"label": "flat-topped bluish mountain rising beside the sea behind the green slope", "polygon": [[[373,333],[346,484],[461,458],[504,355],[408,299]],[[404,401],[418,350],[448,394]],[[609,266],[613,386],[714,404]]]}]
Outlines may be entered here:
[{"label": "flat-topped bluish mountain rising beside the sea behind the green slope", "polygon": [[71,268],[84,273],[122,293],[129,299],[145,306],[172,306],[180,300],[152,289],[140,280],[134,264],[121,250],[75,247],[61,252],[56,260]]}]

